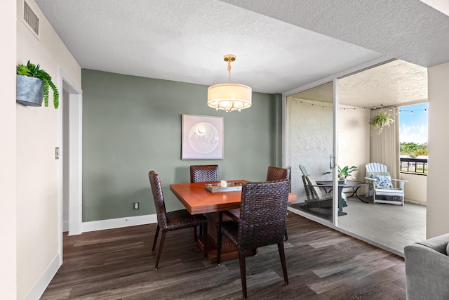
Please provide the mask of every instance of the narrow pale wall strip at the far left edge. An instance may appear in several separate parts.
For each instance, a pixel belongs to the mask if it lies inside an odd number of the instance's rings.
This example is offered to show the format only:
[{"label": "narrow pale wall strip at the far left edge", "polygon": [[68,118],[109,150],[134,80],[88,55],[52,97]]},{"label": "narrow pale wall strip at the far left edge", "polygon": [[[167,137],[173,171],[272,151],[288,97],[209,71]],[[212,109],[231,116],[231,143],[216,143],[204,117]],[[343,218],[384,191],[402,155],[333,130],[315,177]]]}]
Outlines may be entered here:
[{"label": "narrow pale wall strip at the far left edge", "polygon": [[0,298],[17,298],[15,192],[15,11],[14,1],[0,10]]}]

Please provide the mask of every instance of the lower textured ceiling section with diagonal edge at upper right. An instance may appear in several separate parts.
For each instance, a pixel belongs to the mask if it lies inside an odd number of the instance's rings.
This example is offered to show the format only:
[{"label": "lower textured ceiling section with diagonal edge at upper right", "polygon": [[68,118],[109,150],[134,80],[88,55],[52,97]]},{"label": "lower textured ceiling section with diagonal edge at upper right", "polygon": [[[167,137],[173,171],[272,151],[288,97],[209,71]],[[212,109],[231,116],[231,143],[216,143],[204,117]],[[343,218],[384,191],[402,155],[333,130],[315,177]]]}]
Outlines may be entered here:
[{"label": "lower textured ceiling section with diagonal edge at upper right", "polygon": [[449,16],[419,0],[222,1],[423,67],[449,61]]}]

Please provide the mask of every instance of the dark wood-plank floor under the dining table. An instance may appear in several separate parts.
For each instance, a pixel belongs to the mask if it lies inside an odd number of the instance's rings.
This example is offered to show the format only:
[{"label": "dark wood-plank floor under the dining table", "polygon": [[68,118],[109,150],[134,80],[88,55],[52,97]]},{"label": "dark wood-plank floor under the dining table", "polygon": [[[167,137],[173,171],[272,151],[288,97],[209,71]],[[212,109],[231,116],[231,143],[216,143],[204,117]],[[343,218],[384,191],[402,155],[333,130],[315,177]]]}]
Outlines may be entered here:
[{"label": "dark wood-plank floor under the dining table", "polygon": [[[283,285],[276,245],[262,247],[246,259],[248,299],[406,299],[402,257],[291,212],[287,225],[290,284]],[[155,229],[64,235],[64,263],[41,299],[242,298],[238,259],[204,261],[192,229],[167,233],[154,270]]]}]

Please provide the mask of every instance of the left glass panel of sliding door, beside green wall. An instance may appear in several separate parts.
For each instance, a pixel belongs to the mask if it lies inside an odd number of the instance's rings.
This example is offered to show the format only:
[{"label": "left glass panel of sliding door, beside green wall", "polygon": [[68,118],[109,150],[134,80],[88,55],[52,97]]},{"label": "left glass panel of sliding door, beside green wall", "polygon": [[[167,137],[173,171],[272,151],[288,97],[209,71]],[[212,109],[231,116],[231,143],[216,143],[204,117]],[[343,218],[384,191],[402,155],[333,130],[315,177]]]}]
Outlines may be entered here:
[{"label": "left glass panel of sliding door, beside green wall", "polygon": [[[286,97],[286,165],[291,167],[291,209],[333,223],[338,211],[335,185],[333,81]],[[337,197],[337,198],[335,198]]]}]

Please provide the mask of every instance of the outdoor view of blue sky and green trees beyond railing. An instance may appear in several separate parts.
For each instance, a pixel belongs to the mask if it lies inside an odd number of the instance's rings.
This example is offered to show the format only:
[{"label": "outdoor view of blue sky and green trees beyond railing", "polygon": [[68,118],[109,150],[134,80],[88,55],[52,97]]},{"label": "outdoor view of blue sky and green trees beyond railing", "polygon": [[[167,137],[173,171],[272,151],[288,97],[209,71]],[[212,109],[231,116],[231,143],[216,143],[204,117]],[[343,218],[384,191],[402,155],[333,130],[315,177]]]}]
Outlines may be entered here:
[{"label": "outdoor view of blue sky and green trees beyond railing", "polygon": [[402,162],[401,171],[427,173],[427,103],[402,106],[399,109],[400,155],[420,162]]}]

